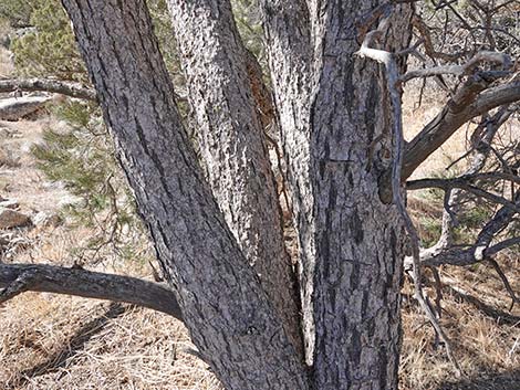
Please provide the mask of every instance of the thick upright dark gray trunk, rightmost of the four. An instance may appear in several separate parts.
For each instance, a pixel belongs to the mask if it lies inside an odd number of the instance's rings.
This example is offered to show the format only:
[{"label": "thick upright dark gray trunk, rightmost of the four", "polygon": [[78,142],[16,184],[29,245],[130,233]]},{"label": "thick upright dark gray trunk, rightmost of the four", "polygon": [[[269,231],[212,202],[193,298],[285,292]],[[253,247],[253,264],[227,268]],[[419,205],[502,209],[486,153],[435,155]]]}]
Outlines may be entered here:
[{"label": "thick upright dark gray trunk, rightmost of the four", "polygon": [[[378,193],[394,149],[392,108],[384,71],[353,56],[356,21],[375,4],[325,3],[310,139],[315,386],[397,389],[404,232],[397,209]],[[395,15],[382,43],[389,52],[410,38],[409,7],[396,6]]]}]

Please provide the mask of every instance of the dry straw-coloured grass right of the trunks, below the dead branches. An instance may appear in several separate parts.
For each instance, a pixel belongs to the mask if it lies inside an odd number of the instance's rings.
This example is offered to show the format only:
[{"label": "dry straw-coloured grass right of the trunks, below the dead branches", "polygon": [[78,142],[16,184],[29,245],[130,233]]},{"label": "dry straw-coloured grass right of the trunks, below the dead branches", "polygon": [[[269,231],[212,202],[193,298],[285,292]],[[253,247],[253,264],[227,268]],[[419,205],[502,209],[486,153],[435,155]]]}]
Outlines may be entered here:
[{"label": "dry straw-coloured grass right of the trunks, below the dead branches", "polygon": [[[520,289],[518,253],[501,260],[516,291]],[[404,346],[402,389],[516,390],[520,383],[520,308],[509,312],[509,296],[497,274],[486,265],[475,268],[446,267],[441,325],[448,333],[465,378],[456,378],[443,347],[434,348],[434,333],[404,288]],[[454,287],[454,288],[453,288]],[[482,306],[475,306],[470,297]],[[428,289],[431,297],[435,292]],[[488,309],[490,309],[488,312]],[[495,310],[492,313],[491,310]]]}]

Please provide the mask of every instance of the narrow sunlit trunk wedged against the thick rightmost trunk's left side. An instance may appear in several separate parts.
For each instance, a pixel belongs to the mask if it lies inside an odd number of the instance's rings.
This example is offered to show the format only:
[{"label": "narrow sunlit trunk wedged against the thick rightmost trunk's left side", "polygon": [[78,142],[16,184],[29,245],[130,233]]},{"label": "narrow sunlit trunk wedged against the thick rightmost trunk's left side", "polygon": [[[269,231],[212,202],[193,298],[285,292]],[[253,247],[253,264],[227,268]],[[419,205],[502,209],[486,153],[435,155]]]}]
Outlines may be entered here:
[{"label": "narrow sunlit trunk wedged against the thick rightmost trunk's left side", "polygon": [[314,252],[312,234],[312,189],[309,186],[309,102],[312,77],[312,46],[309,11],[303,0],[262,1],[264,34],[281,147],[285,158],[288,185],[291,192],[294,226],[299,239],[299,280],[302,301],[302,331],[305,361],[312,365],[314,326],[312,291],[305,288],[312,270],[303,266]]}]

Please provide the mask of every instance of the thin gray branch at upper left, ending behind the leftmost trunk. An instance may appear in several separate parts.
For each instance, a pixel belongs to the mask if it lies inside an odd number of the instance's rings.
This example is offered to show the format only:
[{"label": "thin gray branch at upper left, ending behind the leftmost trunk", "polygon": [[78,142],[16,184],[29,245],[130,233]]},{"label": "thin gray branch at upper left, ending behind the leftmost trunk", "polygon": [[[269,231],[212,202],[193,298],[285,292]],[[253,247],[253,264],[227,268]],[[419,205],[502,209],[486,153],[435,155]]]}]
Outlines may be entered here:
[{"label": "thin gray branch at upper left, ending behind the leftmost trunk", "polygon": [[96,92],[92,88],[84,87],[77,83],[62,82],[49,78],[9,78],[0,80],[0,92],[50,92],[62,94],[70,97],[82,98],[85,101],[96,102]]}]

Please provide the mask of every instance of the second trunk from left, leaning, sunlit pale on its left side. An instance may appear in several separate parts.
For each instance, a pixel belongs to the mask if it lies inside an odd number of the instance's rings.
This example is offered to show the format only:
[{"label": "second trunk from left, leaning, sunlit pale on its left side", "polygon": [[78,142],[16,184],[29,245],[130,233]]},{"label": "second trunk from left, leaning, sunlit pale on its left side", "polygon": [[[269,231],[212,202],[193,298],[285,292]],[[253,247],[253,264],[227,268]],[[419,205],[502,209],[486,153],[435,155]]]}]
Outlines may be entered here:
[{"label": "second trunk from left, leaning, sunlit pale on its left side", "polygon": [[[168,0],[202,165],[226,222],[297,350],[300,308],[275,181],[229,1]],[[260,75],[261,77],[261,75]]]}]

